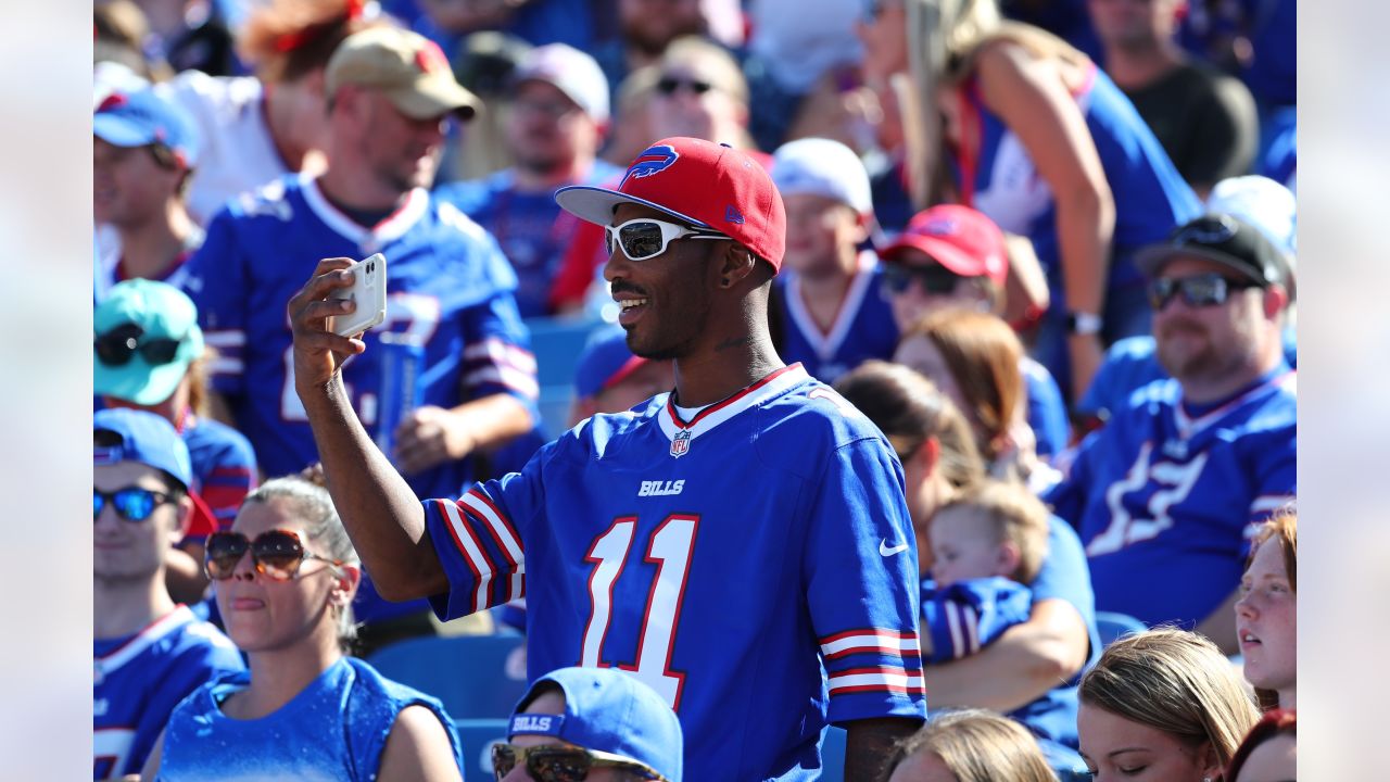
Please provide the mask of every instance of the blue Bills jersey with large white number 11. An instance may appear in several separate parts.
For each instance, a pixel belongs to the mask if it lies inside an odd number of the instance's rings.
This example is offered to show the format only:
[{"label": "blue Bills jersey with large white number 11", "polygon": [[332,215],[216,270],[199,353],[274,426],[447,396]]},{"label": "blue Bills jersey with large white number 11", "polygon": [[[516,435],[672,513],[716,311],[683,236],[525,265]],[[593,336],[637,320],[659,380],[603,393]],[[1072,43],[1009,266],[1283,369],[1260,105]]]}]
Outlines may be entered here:
[{"label": "blue Bills jersey with large white number 11", "polygon": [[926,717],[902,469],[801,366],[682,420],[600,415],[424,504],[453,618],[527,598],[528,673],[632,672],[689,779],[813,779],[828,722]]}]

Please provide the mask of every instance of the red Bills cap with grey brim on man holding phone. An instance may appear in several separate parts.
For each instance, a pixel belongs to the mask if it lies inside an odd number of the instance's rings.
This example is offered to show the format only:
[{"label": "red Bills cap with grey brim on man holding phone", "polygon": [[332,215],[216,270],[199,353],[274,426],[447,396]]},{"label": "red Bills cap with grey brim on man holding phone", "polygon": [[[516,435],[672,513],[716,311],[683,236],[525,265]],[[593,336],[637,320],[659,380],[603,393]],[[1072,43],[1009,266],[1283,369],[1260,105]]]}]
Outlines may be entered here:
[{"label": "red Bills cap with grey brim on man holding phone", "polygon": [[581,220],[609,225],[620,203],[639,203],[712,228],[781,269],[787,212],[758,160],[727,145],[692,138],[662,139],[632,160],[617,189],[573,185],[556,203]]}]

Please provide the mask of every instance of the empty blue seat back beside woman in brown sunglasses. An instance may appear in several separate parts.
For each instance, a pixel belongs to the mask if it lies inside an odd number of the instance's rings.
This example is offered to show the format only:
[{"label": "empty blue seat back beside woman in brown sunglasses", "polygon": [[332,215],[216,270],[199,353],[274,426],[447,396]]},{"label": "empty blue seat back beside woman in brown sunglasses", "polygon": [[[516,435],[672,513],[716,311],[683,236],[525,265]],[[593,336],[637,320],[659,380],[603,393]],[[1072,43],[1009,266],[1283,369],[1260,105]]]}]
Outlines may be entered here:
[{"label": "empty blue seat back beside woman in brown sunglasses", "polygon": [[506,719],[525,694],[524,643],[521,636],[409,639],[377,651],[367,662],[384,676],[439,699],[456,721]]}]

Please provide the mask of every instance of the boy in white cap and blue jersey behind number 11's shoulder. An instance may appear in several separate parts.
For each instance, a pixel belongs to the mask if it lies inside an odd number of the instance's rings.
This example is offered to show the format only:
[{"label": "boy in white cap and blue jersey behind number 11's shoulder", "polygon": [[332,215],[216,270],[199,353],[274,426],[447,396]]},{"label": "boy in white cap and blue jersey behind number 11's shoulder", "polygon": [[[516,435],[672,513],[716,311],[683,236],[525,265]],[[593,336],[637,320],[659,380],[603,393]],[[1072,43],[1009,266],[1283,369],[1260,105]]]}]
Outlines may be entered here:
[{"label": "boy in white cap and blue jersey behind number 11's shoulder", "polygon": [[777,352],[812,377],[834,383],[865,359],[888,359],[898,342],[878,284],[863,163],[830,139],[798,139],[773,156],[773,182],[787,205],[787,273],[773,285]]}]

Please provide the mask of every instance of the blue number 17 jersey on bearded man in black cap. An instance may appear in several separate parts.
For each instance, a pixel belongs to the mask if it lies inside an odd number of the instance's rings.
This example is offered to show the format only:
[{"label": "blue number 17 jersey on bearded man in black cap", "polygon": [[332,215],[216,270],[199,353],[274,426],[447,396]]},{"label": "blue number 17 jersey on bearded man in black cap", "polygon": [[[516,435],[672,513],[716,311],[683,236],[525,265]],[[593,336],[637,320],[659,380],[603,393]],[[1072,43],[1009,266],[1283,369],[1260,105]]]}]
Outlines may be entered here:
[{"label": "blue number 17 jersey on bearded man in black cap", "polygon": [[1194,406],[1176,380],[1136,391],[1047,500],[1080,532],[1095,608],[1191,628],[1240,583],[1250,534],[1297,488],[1295,374]]}]

